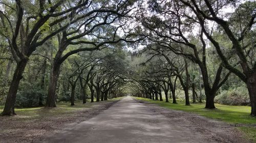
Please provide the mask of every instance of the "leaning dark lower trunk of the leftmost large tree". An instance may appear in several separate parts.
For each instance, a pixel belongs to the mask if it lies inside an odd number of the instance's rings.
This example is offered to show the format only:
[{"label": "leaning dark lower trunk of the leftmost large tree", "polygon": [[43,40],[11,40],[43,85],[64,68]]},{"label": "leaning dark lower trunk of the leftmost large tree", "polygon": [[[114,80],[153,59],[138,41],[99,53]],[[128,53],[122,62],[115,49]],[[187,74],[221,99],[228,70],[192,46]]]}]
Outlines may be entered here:
[{"label": "leaning dark lower trunk of the leftmost large tree", "polygon": [[16,100],[16,94],[18,91],[18,85],[20,79],[22,79],[22,74],[25,70],[25,67],[27,65],[27,60],[22,60],[17,63],[17,67],[15,69],[11,85],[7,94],[6,102],[5,102],[5,108],[1,115],[15,115],[14,106],[15,106],[15,100]]}]

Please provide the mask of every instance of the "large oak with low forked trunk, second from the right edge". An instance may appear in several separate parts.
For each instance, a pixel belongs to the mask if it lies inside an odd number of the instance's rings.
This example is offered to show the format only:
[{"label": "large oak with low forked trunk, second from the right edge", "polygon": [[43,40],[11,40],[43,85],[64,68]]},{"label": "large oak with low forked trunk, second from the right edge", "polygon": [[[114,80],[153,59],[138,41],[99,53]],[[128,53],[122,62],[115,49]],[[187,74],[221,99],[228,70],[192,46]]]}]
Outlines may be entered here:
[{"label": "large oak with low forked trunk, second from the right edge", "polygon": [[[158,1],[152,2],[152,5],[155,6],[153,11],[156,12],[157,15],[142,18],[142,24],[148,33],[147,38],[157,43],[161,48],[171,50],[175,54],[182,55],[191,62],[198,64],[203,76],[206,95],[205,108],[215,108],[214,97],[221,85],[225,83],[230,73],[222,75],[224,69],[223,63],[220,62],[214,82],[210,84],[208,66],[206,63],[206,42],[203,38],[202,30],[199,29],[196,36],[191,34],[193,33],[192,30],[195,30],[193,26],[197,24],[197,21],[189,18],[188,13],[190,11],[186,11],[187,8],[180,5],[179,1],[163,1],[163,3],[159,3]],[[196,41],[195,39],[200,40]]]}]

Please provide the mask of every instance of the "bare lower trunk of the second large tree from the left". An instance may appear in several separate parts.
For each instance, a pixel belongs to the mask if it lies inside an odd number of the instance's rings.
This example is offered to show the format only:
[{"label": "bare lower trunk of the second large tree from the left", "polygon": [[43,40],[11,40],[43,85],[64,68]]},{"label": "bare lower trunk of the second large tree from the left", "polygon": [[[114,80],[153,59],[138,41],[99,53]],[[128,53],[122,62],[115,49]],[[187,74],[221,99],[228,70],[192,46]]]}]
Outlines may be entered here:
[{"label": "bare lower trunk of the second large tree from the left", "polygon": [[57,87],[57,82],[58,82],[58,77],[60,72],[60,66],[61,64],[58,63],[56,60],[54,60],[52,70],[51,70],[46,107],[56,107],[55,94],[56,94],[56,87]]}]

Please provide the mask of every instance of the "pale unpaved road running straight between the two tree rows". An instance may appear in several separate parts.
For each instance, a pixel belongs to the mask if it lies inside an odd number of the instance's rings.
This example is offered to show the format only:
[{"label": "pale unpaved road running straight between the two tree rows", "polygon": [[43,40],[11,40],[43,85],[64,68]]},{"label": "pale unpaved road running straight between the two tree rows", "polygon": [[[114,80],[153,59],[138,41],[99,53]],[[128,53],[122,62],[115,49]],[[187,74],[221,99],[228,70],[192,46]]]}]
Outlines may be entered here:
[{"label": "pale unpaved road running straight between the two tree rows", "polygon": [[[209,127],[216,124],[218,130],[207,130],[207,127],[191,124],[187,119],[174,117],[179,114],[182,112],[167,111],[125,97],[94,118],[70,126],[52,135],[45,142],[245,142],[240,134],[233,132],[234,129],[228,125],[210,122]],[[195,118],[198,122],[208,120]],[[207,125],[206,123],[200,126]],[[218,137],[218,133],[227,135]]]}]

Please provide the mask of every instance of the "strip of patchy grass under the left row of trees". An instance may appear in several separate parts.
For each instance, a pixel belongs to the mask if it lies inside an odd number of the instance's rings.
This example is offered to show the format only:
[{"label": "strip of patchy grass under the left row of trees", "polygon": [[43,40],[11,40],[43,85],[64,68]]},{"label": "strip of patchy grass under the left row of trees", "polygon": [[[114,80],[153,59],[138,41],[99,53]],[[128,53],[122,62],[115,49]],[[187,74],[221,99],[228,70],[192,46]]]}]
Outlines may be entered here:
[{"label": "strip of patchy grass under the left row of trees", "polygon": [[[75,106],[71,106],[70,102],[57,102],[57,107],[52,109],[48,109],[45,107],[15,108],[15,112],[17,113],[19,117],[18,119],[20,120],[34,120],[40,119],[41,117],[71,116],[75,111],[86,109],[97,104],[113,102],[120,99],[121,97],[93,103],[88,101],[86,104],[82,104],[82,101],[75,101]],[[3,109],[4,106],[0,106],[0,112],[2,112]]]}]

